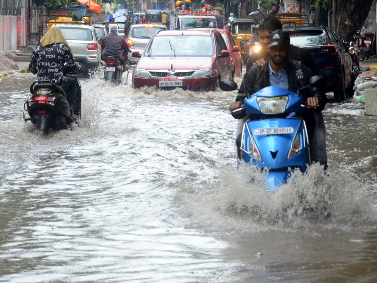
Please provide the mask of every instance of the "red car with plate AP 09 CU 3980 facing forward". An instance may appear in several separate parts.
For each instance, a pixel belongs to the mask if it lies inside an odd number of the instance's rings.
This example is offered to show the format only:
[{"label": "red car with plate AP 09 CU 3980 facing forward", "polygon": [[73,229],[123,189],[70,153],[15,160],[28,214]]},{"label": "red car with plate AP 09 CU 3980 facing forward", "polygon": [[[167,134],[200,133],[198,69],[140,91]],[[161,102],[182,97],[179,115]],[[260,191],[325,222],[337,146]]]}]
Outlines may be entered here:
[{"label": "red car with plate AP 09 CU 3980 facing forward", "polygon": [[234,68],[222,34],[216,29],[157,31],[132,73],[133,88],[156,86],[192,91],[215,90],[233,80]]}]

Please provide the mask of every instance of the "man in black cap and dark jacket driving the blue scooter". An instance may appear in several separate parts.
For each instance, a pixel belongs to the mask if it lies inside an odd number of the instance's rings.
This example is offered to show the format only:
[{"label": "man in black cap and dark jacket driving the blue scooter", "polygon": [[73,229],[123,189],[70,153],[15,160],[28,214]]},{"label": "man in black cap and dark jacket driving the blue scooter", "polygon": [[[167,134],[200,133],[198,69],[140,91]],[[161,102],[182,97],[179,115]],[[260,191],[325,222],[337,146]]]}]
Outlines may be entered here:
[{"label": "man in black cap and dark jacket driving the blue scooter", "polygon": [[[290,52],[290,38],[287,32],[282,30],[272,32],[268,48],[271,55],[270,60],[264,66],[255,65],[248,69],[236,102],[231,103],[229,106],[230,111],[241,108],[248,95],[254,94],[267,86],[279,86],[291,92],[297,92],[300,88],[308,85],[309,79],[312,77],[311,69],[302,62],[291,61],[287,58]],[[307,103],[305,109],[301,111],[301,115],[306,122],[309,142],[311,142],[316,127],[313,111],[322,111],[327,101],[326,95],[317,88],[304,89],[301,94]],[[245,112],[240,110],[232,113],[232,115],[234,118],[244,119]],[[248,118],[253,120],[257,117]],[[236,144],[239,158],[241,158],[241,152],[239,151],[241,139],[241,131],[238,130]],[[311,152],[310,155],[312,161],[320,162],[326,167],[325,162],[317,159],[315,152]]]}]

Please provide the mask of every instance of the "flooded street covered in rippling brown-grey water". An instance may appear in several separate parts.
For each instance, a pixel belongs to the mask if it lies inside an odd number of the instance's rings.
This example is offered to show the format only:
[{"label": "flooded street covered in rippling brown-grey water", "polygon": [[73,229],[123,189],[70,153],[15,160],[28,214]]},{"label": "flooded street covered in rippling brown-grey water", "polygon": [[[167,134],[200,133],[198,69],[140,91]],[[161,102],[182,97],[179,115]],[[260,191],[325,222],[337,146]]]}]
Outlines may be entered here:
[{"label": "flooded street covered in rippling brown-grey water", "polygon": [[329,103],[329,169],[271,193],[236,168],[236,92],[80,79],[80,125],[45,137],[35,79],[0,80],[0,282],[377,282],[377,117]]}]

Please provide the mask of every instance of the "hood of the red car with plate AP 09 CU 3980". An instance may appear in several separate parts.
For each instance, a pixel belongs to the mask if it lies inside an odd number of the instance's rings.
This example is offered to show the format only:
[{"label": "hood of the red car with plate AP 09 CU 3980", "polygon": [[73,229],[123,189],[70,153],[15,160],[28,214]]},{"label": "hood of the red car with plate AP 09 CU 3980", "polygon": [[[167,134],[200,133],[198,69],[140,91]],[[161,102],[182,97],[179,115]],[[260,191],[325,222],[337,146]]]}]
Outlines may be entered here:
[{"label": "hood of the red car with plate AP 09 CU 3980", "polygon": [[203,69],[211,68],[215,57],[142,57],[137,65],[137,68],[147,70],[161,70],[166,69]]}]

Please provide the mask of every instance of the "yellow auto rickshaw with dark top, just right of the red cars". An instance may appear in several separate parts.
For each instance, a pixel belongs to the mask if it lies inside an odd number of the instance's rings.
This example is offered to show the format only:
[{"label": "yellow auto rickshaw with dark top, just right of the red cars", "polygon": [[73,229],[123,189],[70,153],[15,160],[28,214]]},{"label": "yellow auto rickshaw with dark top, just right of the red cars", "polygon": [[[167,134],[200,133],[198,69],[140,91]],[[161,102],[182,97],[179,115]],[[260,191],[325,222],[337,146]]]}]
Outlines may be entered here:
[{"label": "yellow auto rickshaw with dark top, just right of the red cars", "polygon": [[256,25],[257,22],[255,20],[236,18],[233,18],[228,24],[229,31],[234,39],[234,42],[241,49],[241,58],[244,65],[246,65],[249,57],[249,46],[247,43],[256,32]]}]

